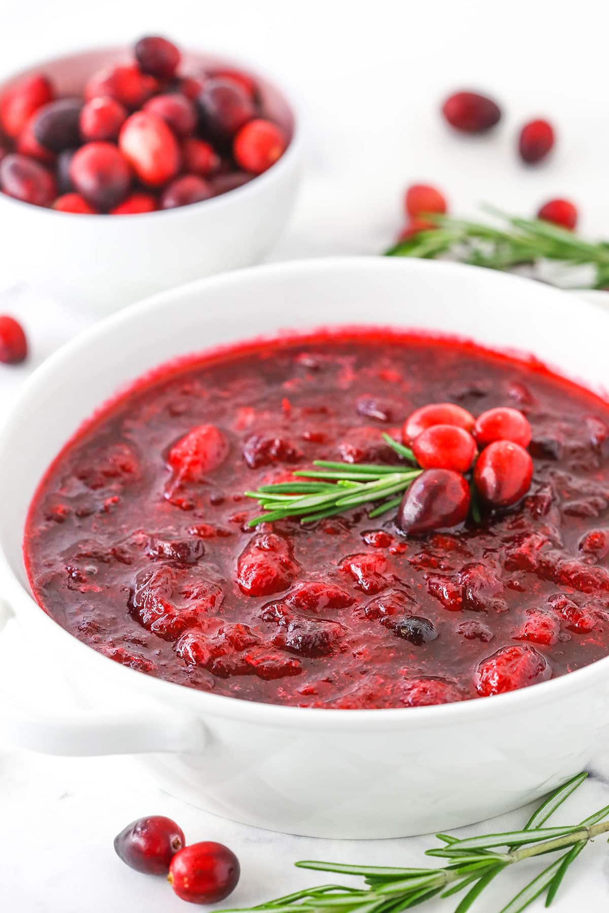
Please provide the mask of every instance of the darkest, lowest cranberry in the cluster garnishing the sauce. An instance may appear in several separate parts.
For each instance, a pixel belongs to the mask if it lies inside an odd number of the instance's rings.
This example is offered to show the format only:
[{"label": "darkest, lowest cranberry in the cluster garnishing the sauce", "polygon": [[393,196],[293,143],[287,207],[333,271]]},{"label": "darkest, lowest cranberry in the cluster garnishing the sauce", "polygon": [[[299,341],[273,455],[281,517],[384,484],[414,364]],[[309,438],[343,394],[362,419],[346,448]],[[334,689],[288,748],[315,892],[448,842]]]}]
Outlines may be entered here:
[{"label": "darkest, lowest cranberry in the cluster garnishing the sauce", "polygon": [[459,473],[425,469],[404,492],[397,525],[414,535],[457,526],[467,517],[469,499],[469,486]]}]

